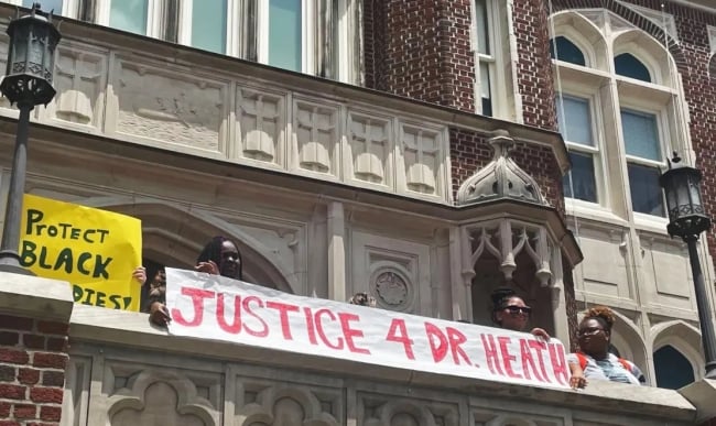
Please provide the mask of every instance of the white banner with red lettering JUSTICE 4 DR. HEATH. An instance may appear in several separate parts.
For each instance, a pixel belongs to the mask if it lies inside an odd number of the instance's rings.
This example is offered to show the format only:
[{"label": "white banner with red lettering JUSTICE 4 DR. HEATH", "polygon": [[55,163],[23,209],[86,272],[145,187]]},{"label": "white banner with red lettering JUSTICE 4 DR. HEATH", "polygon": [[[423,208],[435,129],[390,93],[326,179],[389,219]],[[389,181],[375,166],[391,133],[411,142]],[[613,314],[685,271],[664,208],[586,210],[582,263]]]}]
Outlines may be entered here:
[{"label": "white banner with red lettering JUSTICE 4 DR. HEATH", "polygon": [[166,270],[170,332],[535,386],[568,389],[562,342],[302,297],[218,275]]}]

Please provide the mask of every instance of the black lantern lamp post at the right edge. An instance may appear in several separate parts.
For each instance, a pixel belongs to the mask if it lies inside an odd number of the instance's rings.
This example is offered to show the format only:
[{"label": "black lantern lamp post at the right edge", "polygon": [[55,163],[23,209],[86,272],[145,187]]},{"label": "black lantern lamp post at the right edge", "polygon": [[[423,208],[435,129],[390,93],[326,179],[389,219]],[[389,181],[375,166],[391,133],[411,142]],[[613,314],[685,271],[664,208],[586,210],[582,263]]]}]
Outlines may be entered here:
[{"label": "black lantern lamp post at the right edge", "polygon": [[701,198],[701,171],[685,164],[674,153],[669,170],[661,175],[659,183],[666,195],[669,226],[671,237],[681,237],[688,245],[688,260],[696,288],[696,307],[701,323],[701,339],[706,356],[706,378],[716,379],[716,334],[712,321],[712,308],[704,284],[696,242],[698,236],[710,228],[710,218],[706,216]]}]

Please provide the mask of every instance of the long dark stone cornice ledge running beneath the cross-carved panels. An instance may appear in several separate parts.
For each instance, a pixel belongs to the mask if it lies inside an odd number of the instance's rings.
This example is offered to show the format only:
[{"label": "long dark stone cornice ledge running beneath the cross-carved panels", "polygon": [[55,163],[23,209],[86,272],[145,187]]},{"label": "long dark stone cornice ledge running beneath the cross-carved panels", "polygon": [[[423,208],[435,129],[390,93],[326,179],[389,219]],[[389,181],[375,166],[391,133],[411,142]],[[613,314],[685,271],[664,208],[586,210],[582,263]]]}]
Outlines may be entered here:
[{"label": "long dark stone cornice ledge running beneath the cross-carved panels", "polygon": [[[15,120],[0,117],[0,146],[10,155],[14,142]],[[80,133],[52,125],[33,123],[30,143],[31,161],[36,159],[33,152],[42,152],[54,161],[65,155],[86,156],[87,161],[107,164],[123,164],[128,171],[132,163],[162,165],[177,173],[211,176],[215,185],[224,183],[251,183],[259,190],[285,193],[289,196],[338,200],[348,206],[368,207],[370,210],[393,210],[401,215],[438,220],[444,225],[465,225],[476,220],[489,220],[497,217],[510,217],[534,223],[543,223],[562,248],[572,265],[583,260],[576,239],[567,229],[560,212],[551,206],[539,206],[519,200],[496,200],[477,205],[453,206],[432,203],[397,194],[355,187],[338,182],[318,181],[297,176],[282,171],[272,171],[245,164],[236,164],[224,159],[207,159],[192,154],[178,153],[161,148],[140,145],[102,135]],[[130,173],[130,172],[124,172]],[[262,189],[263,188],[263,189]],[[377,206],[380,206],[379,208]]]}]

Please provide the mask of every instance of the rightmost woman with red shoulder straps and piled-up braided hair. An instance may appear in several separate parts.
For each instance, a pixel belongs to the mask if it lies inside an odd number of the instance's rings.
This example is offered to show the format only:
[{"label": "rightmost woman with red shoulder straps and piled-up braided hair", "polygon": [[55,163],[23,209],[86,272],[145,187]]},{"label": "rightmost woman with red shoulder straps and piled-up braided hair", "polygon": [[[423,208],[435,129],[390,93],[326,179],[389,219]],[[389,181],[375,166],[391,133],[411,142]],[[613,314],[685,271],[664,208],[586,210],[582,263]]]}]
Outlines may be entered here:
[{"label": "rightmost woman with red shoulder straps and piled-up braided hair", "polygon": [[606,306],[586,310],[577,334],[579,351],[569,353],[567,362],[581,367],[587,379],[641,384],[644,376],[633,362],[609,353],[615,320],[614,312]]}]

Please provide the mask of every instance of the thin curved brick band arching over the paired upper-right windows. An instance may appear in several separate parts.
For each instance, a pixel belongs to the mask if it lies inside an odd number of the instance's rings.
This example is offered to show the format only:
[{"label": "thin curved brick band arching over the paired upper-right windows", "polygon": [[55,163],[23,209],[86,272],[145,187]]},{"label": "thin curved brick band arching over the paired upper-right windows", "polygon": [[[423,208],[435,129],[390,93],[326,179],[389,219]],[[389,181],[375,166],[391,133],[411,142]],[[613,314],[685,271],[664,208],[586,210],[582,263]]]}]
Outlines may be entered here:
[{"label": "thin curved brick band arching over the paired upper-right windows", "polygon": [[679,70],[686,70],[686,56],[682,50],[679,41],[674,40],[671,35],[665,34],[664,31],[653,22],[643,17],[633,10],[629,9],[627,6],[619,3],[616,0],[563,0],[560,6],[554,8],[558,11],[564,10],[574,10],[578,11],[579,9],[606,9],[622,20],[629,22],[634,28],[644,31],[652,39],[657,40],[662,46],[665,46],[666,50],[671,53],[671,56],[676,64]]}]

